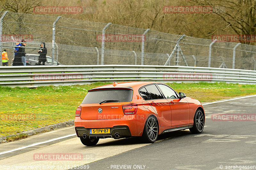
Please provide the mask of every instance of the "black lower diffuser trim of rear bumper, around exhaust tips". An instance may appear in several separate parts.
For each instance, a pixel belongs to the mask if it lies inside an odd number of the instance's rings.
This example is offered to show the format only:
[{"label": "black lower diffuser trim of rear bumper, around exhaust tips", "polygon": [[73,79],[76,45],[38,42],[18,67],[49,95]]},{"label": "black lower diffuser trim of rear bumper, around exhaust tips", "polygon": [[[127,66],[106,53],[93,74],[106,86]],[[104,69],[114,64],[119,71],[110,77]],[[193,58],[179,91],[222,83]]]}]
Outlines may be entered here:
[{"label": "black lower diffuser trim of rear bumper, around exhaust tips", "polygon": [[116,133],[118,133],[120,137],[132,136],[128,126],[114,126],[113,128],[110,128],[110,133],[108,134],[90,134],[90,129],[84,127],[76,127],[75,129],[78,137],[83,137],[83,134],[86,134],[86,136],[89,138],[116,138]]}]

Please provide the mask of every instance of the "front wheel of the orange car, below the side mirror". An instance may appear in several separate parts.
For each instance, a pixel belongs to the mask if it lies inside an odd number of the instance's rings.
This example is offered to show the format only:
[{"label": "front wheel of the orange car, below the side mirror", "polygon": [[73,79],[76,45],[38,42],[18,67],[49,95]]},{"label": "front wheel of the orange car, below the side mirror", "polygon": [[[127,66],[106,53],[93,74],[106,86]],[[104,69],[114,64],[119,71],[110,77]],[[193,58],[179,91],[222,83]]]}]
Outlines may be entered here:
[{"label": "front wheel of the orange car, below the side mirror", "polygon": [[191,133],[198,134],[204,130],[204,112],[201,109],[197,109],[194,116],[194,124],[192,128],[189,128]]}]

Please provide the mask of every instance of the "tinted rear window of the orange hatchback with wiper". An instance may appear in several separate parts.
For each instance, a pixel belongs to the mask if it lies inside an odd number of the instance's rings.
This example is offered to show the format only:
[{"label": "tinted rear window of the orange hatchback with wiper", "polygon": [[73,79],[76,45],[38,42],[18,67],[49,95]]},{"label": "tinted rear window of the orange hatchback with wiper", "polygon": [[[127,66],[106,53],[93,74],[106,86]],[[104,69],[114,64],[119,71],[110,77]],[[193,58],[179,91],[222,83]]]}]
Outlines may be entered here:
[{"label": "tinted rear window of the orange hatchback with wiper", "polygon": [[132,101],[132,93],[132,90],[125,89],[94,90],[87,93],[82,104],[100,103],[105,100]]}]

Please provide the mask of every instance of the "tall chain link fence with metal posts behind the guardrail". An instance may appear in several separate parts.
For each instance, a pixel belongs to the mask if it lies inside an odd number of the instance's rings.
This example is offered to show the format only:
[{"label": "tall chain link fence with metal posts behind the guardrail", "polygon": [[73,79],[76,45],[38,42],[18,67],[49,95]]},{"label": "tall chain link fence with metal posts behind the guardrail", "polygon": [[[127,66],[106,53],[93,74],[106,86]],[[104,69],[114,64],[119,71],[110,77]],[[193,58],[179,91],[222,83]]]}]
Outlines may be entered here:
[{"label": "tall chain link fence with metal posts behind the guardrail", "polygon": [[[0,12],[0,50],[12,65],[15,42],[27,41],[27,54],[62,65],[177,65],[255,70],[256,46],[173,35],[150,29],[63,17]],[[38,58],[38,57],[37,57]],[[36,60],[36,59],[35,59]],[[57,62],[56,62],[57,63]],[[48,65],[54,62],[49,60]]]}]

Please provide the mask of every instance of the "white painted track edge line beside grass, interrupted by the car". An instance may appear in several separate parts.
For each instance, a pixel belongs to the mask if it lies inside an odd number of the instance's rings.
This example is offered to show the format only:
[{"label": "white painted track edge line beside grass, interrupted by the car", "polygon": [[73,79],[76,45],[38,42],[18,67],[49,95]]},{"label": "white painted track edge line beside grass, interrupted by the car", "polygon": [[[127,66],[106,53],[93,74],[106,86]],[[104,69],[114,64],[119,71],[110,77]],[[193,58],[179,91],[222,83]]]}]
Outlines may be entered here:
[{"label": "white painted track edge line beside grass, interrupted by the car", "polygon": [[[203,105],[210,105],[210,104],[214,104],[214,103],[220,103],[220,102],[237,100],[237,99],[244,99],[244,98],[248,98],[248,97],[256,97],[256,95],[238,97],[238,98],[228,99],[228,100],[214,101],[214,102],[211,102],[211,103],[204,103]],[[47,140],[47,141],[44,141],[44,142],[38,142],[38,143],[34,143],[34,144],[29,144],[27,146],[23,146],[23,147],[20,147],[20,148],[12,149],[10,151],[1,152],[0,155],[5,154],[5,153],[10,153],[10,152],[18,151],[18,150],[25,149],[25,148],[29,148],[29,147],[36,146],[36,145],[39,145],[39,144],[45,144],[45,143],[52,142],[52,141],[59,140],[59,139],[63,139],[63,138],[66,138],[66,137],[72,137],[72,136],[75,136],[75,135],[76,135],[76,133],[70,134],[70,135],[67,135],[67,136],[63,136],[63,137],[57,137],[57,138],[50,139],[50,140]]]}]

